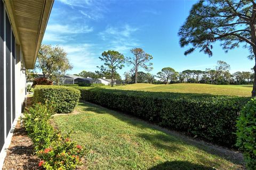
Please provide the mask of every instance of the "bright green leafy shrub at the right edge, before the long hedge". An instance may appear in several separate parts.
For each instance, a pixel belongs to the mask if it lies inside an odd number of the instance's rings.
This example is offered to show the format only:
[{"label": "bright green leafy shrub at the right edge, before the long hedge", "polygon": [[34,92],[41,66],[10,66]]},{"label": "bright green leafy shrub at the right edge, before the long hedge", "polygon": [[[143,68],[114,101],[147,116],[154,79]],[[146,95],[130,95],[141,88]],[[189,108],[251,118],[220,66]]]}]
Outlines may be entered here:
[{"label": "bright green leafy shrub at the right edge, before the long hedge", "polygon": [[251,99],[241,111],[237,121],[237,143],[249,170],[256,169],[256,98]]}]

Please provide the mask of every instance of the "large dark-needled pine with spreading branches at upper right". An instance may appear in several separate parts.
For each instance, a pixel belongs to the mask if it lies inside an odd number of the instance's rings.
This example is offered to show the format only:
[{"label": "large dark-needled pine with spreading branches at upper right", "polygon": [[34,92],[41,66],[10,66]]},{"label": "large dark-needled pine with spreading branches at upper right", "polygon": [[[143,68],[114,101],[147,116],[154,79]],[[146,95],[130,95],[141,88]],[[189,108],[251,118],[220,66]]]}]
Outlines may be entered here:
[{"label": "large dark-needled pine with spreading branches at upper right", "polygon": [[199,48],[212,56],[215,41],[226,52],[243,45],[254,58],[252,96],[256,96],[256,2],[253,0],[200,0],[193,5],[179,30],[181,47],[192,46],[185,55]]}]

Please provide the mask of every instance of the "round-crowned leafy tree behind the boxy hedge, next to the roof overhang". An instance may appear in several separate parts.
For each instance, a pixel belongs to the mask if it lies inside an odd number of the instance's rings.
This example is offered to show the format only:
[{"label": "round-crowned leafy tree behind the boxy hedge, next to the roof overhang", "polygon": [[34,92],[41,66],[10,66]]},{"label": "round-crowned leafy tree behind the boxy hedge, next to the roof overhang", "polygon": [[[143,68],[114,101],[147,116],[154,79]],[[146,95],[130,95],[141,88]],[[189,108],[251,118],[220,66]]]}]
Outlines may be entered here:
[{"label": "round-crowned leafy tree behind the boxy hedge, next to the roof overhang", "polygon": [[35,69],[41,70],[44,78],[59,84],[66,71],[72,68],[73,66],[69,63],[67,53],[63,48],[41,45]]}]

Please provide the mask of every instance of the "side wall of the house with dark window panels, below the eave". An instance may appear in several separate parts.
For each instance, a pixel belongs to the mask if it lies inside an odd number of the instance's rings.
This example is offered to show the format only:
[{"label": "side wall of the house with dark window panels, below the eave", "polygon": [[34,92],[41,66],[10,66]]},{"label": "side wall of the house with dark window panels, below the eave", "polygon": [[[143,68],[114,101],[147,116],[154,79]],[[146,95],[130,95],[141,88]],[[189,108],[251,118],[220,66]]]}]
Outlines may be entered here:
[{"label": "side wall of the house with dark window panels, below the eave", "polygon": [[21,48],[16,44],[5,5],[0,1],[0,169],[26,96],[22,68]]}]

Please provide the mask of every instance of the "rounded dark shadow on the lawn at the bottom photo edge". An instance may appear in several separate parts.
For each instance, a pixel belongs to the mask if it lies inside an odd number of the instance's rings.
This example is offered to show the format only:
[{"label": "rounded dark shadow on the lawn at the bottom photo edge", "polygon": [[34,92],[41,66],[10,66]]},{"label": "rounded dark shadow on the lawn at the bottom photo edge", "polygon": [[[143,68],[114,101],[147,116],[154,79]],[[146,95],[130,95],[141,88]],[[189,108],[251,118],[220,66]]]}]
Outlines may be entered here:
[{"label": "rounded dark shadow on the lawn at the bottom photo edge", "polygon": [[214,170],[215,168],[207,167],[204,165],[197,165],[187,161],[167,161],[158,164],[148,170]]}]

